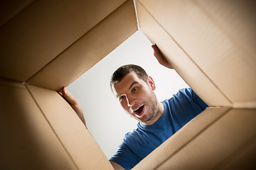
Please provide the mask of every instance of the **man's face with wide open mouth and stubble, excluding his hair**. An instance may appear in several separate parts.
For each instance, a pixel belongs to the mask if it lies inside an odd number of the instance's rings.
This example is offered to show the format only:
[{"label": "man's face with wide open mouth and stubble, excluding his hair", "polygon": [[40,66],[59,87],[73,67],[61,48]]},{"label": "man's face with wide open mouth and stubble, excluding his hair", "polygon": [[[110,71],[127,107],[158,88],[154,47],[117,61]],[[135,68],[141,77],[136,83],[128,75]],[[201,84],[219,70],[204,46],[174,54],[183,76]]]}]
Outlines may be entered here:
[{"label": "man's face with wide open mouth and stubble, excluding his hair", "polygon": [[114,94],[129,115],[144,125],[152,120],[157,111],[154,81],[149,77],[146,83],[135,72],[127,74],[122,81],[112,85]]}]

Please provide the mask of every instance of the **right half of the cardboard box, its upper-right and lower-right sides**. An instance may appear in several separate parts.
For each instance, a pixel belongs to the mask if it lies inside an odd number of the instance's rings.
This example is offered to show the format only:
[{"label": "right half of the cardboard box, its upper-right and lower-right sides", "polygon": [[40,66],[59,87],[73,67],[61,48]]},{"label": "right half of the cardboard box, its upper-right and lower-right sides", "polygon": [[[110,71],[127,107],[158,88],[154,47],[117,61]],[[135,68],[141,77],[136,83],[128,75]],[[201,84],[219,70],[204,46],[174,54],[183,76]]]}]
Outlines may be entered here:
[{"label": "right half of the cardboard box, its upper-right and lower-right sides", "polygon": [[255,2],[136,5],[139,27],[210,108],[134,169],[255,168]]}]

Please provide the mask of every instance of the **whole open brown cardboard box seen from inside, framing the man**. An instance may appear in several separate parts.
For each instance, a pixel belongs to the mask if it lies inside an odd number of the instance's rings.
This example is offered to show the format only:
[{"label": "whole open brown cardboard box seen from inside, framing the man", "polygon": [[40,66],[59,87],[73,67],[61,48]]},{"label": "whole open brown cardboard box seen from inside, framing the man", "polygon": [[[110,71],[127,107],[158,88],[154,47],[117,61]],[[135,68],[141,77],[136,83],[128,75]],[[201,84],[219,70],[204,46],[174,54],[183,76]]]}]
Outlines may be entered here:
[{"label": "whole open brown cardboard box seen from inside, framing the man", "polygon": [[245,169],[256,156],[254,1],[6,1],[1,169],[112,169],[58,94],[139,27],[209,108],[134,169]]}]

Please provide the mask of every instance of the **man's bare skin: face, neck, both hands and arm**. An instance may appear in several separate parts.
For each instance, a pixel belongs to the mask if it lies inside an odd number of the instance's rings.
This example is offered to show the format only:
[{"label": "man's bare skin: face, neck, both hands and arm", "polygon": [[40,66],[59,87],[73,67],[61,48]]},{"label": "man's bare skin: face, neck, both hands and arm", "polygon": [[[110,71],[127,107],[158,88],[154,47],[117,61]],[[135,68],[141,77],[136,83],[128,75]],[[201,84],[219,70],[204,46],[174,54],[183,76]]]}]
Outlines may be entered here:
[{"label": "man's bare skin: face, neck, both hands and arm", "polygon": [[[161,55],[159,48],[156,45],[152,45],[151,47],[154,50],[154,56],[156,57],[156,60],[158,60],[159,64],[169,69],[173,69],[171,63],[169,63],[164,56]],[[135,84],[134,81],[136,81]],[[132,84],[133,86],[130,88]],[[134,90],[135,87],[137,87],[136,90]],[[154,95],[154,89],[156,89],[156,86],[151,77],[149,77],[148,81],[145,82],[142,79],[139,79],[139,77],[132,72],[127,74],[122,81],[114,84],[112,89],[121,103],[122,108],[124,108],[127,113],[132,115],[133,118],[141,121],[144,125],[154,124],[164,112],[163,104],[157,101],[156,96]],[[84,123],[86,127],[85,117],[79,101],[72,94],[70,94],[65,87],[61,89],[61,94],[63,98],[70,103],[70,106],[74,109],[75,113],[77,113],[78,117],[80,120],[82,120],[82,123]],[[120,98],[121,96],[122,98]],[[144,106],[144,111],[142,111],[141,115],[134,113],[134,110],[137,110],[139,106]],[[110,164],[112,164],[113,168],[116,170],[124,170],[122,166],[115,162],[110,161]]]}]

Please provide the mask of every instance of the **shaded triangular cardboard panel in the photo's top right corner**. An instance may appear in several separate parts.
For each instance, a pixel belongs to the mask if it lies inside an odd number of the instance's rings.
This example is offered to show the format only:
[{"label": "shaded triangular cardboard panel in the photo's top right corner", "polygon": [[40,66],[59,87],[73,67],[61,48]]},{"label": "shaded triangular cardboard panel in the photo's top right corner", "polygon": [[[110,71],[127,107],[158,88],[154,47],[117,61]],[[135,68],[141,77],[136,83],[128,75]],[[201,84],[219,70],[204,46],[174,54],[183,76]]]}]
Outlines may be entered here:
[{"label": "shaded triangular cardboard panel in the photo's top right corner", "polygon": [[251,0],[196,0],[201,10],[212,18],[223,31],[234,41],[245,48],[250,55],[255,55],[256,49],[256,2]]}]

